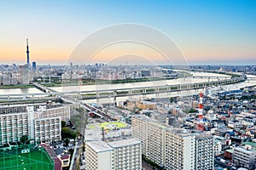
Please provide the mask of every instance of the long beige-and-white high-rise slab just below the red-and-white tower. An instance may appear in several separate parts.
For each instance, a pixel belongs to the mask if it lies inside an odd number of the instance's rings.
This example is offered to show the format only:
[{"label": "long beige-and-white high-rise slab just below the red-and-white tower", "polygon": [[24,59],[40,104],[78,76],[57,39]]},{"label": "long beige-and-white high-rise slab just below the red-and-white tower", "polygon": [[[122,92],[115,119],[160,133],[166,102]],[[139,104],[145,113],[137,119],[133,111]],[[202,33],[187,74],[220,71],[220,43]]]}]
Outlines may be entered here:
[{"label": "long beige-and-white high-rise slab just below the red-and-white tower", "polygon": [[143,155],[159,166],[183,170],[213,169],[211,135],[190,133],[147,116],[132,116],[131,128],[132,137],[142,140]]}]

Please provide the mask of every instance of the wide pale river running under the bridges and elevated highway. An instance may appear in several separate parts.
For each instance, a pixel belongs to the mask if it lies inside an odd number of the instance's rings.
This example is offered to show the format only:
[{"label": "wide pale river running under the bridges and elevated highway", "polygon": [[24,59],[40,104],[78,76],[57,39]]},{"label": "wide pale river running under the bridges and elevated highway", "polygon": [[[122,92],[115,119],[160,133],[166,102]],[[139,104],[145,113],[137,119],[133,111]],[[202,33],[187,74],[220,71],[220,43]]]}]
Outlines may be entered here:
[{"label": "wide pale river running under the bridges and elevated highway", "polygon": [[[217,81],[224,80],[226,75],[217,74],[217,73],[207,73],[207,72],[190,72],[194,77],[187,78],[179,78],[177,80],[161,80],[161,81],[151,81],[151,82],[131,82],[131,83],[120,83],[120,84],[95,84],[95,85],[84,85],[84,86],[68,86],[68,87],[54,87],[53,90],[57,92],[86,92],[86,91],[98,91],[102,89],[115,89],[115,88],[143,88],[143,87],[154,87],[154,86],[165,86],[165,85],[177,85],[177,84],[185,84],[185,83],[195,83],[195,82],[208,82],[208,81]],[[212,77],[210,80],[208,78],[201,77]],[[218,77],[218,79],[217,79]],[[256,77],[253,75],[247,75],[247,77]],[[229,86],[225,86],[230,89],[244,88],[247,86],[256,85],[256,80],[249,80],[246,82],[240,82],[236,84],[232,84]],[[38,88],[10,88],[10,89],[0,89],[0,94],[2,95],[12,95],[12,94],[44,94],[42,91],[38,90]],[[172,94],[159,94],[157,97],[172,97],[172,96],[184,96],[190,94],[198,94],[198,91],[183,91],[179,93]],[[140,96],[133,96],[132,98],[141,98]],[[156,97],[155,94],[147,95],[148,98]],[[129,97],[119,97],[117,101],[123,101],[125,99],[129,99]],[[113,101],[113,99],[100,99],[100,103],[109,103],[109,101]],[[96,102],[96,99],[86,100],[86,102],[92,103]]]}]

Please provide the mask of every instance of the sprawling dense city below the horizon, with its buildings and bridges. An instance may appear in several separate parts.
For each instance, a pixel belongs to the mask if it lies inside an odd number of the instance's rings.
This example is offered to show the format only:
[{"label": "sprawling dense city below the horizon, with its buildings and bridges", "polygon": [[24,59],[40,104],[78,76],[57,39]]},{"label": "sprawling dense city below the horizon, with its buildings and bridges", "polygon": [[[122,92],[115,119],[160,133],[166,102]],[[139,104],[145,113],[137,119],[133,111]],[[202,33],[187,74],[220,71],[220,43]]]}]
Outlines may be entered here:
[{"label": "sprawling dense city below the horizon, with its buildings and bridges", "polygon": [[[1,65],[0,90],[37,91],[1,94],[0,169],[254,169],[255,70],[242,65]],[[189,78],[205,81],[193,85]],[[160,81],[180,79],[189,88],[158,88]],[[158,90],[108,89],[101,94],[113,91],[107,102],[96,92],[55,90],[138,82],[154,82]],[[83,93],[88,99],[79,97]]]}]

